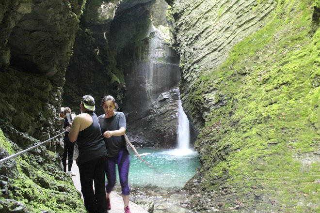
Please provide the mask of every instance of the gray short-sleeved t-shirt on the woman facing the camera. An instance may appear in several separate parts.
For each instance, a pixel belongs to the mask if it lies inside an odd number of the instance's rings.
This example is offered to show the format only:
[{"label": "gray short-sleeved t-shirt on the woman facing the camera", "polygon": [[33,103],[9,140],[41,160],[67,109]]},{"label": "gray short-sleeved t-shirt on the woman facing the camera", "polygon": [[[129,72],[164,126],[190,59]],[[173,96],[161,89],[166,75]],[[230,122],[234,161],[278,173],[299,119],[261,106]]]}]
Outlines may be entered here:
[{"label": "gray short-sleeved t-shirt on the woman facing the camera", "polygon": [[[102,135],[105,131],[118,130],[120,127],[126,128],[126,117],[123,112],[115,112],[111,118],[105,118],[104,114],[98,117]],[[110,138],[103,137],[106,143],[108,157],[118,154],[120,149],[127,149],[127,143],[124,136],[112,136]]]}]

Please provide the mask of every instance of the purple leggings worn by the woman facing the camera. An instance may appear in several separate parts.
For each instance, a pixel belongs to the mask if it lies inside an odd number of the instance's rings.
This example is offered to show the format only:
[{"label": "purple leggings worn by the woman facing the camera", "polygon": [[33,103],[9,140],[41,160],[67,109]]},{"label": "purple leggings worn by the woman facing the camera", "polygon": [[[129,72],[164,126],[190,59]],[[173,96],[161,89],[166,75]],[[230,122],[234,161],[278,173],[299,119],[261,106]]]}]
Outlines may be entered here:
[{"label": "purple leggings worn by the woman facing the camera", "polygon": [[129,195],[130,187],[128,183],[130,158],[126,149],[121,149],[116,156],[108,157],[106,164],[106,175],[108,183],[106,183],[107,193],[111,193],[115,185],[115,164],[118,164],[119,178],[121,184],[121,194]]}]

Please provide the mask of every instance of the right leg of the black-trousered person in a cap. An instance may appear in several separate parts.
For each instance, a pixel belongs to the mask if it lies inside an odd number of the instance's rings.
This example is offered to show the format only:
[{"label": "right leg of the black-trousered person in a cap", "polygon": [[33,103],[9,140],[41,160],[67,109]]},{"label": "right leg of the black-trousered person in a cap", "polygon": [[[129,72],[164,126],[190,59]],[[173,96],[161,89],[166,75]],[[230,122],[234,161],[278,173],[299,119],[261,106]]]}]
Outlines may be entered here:
[{"label": "right leg of the black-trousered person in a cap", "polygon": [[107,200],[106,200],[106,191],[105,191],[105,185],[104,185],[105,168],[106,168],[106,157],[99,158],[94,171],[97,213],[107,212]]}]

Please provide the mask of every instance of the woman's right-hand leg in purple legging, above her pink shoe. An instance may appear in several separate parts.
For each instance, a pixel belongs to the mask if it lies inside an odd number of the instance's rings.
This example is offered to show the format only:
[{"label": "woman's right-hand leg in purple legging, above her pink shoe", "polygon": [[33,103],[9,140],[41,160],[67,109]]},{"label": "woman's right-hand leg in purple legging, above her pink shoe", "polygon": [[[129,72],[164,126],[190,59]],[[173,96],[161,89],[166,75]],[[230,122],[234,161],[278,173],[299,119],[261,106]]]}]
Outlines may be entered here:
[{"label": "woman's right-hand leg in purple legging, above her pink shoe", "polygon": [[129,205],[130,187],[128,182],[130,158],[127,150],[121,150],[117,159],[119,179],[121,184],[121,194],[125,208]]}]

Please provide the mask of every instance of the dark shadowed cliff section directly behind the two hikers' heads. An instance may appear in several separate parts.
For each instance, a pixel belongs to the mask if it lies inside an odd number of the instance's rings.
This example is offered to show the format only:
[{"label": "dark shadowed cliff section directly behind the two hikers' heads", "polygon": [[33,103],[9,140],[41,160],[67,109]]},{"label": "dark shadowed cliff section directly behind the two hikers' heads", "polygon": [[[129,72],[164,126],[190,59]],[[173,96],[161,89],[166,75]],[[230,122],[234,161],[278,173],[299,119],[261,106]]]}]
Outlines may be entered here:
[{"label": "dark shadowed cliff section directly behind the two hikers' heads", "polygon": [[[115,65],[116,61],[109,47],[108,34],[121,1],[105,3],[93,0],[85,5],[80,18],[74,54],[66,71],[64,85],[64,106],[80,113],[81,97],[92,95],[100,105],[106,94],[122,100],[124,96],[124,76]],[[113,41],[112,41],[113,42]],[[96,114],[102,114],[96,107]]]}]

